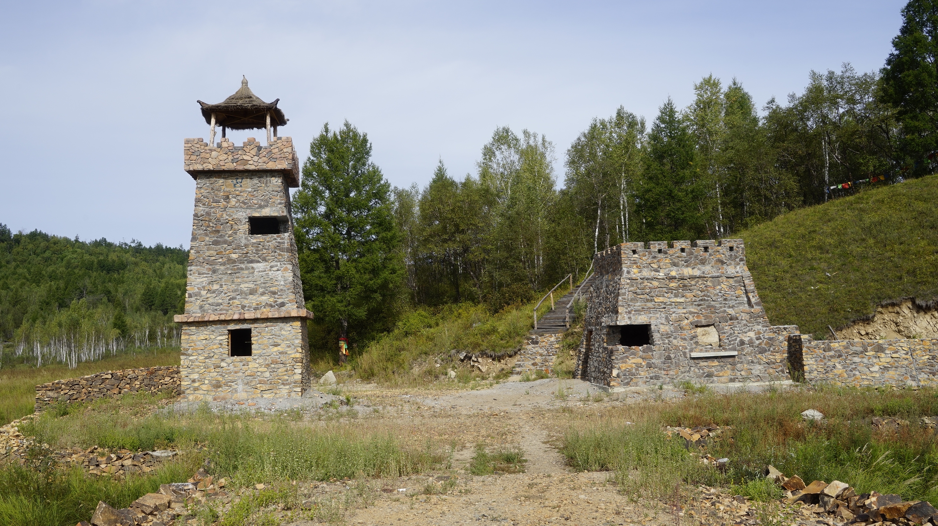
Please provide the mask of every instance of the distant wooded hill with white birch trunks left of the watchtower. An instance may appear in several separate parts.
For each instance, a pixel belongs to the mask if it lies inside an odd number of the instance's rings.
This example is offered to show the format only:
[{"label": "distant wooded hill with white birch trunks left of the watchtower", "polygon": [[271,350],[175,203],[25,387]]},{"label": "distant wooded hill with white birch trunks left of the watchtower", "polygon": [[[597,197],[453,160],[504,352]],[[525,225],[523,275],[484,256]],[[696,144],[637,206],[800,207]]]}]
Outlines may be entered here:
[{"label": "distant wooded hill with white birch trunks left of the watchtower", "polygon": [[179,343],[189,251],[84,242],[0,224],[0,353],[6,363],[78,362]]}]

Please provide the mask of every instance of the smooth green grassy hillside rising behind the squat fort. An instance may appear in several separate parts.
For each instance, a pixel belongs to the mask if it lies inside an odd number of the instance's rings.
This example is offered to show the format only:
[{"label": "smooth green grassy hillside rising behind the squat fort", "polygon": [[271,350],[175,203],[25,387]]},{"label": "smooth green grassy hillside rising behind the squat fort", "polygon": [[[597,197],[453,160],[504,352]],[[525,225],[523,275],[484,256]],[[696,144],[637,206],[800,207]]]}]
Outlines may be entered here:
[{"label": "smooth green grassy hillside rising behind the squat fort", "polygon": [[773,324],[830,338],[885,300],[938,297],[938,175],[795,210],[738,236]]}]

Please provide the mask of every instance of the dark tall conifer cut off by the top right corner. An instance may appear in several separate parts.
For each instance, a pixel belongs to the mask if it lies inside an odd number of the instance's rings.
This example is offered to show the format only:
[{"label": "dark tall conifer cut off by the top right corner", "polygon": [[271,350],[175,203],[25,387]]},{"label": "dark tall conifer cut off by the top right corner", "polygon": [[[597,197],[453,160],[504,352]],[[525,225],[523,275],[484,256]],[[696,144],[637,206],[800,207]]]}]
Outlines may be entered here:
[{"label": "dark tall conifer cut off by the top right corner", "polygon": [[897,107],[900,139],[911,175],[930,173],[928,156],[938,150],[938,2],[911,0],[892,39],[882,70],[880,98]]}]

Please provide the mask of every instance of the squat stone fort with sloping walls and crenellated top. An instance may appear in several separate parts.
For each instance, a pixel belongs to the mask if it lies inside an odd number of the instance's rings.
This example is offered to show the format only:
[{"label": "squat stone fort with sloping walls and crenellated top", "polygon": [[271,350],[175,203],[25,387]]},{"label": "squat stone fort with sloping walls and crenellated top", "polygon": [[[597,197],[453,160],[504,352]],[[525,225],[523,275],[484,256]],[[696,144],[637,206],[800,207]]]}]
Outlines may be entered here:
[{"label": "squat stone fort with sloping walls and crenellated top", "polygon": [[[788,379],[787,337],[798,329],[768,322],[742,240],[623,243],[594,265],[577,378],[612,391]],[[623,345],[639,333],[645,344]]]}]

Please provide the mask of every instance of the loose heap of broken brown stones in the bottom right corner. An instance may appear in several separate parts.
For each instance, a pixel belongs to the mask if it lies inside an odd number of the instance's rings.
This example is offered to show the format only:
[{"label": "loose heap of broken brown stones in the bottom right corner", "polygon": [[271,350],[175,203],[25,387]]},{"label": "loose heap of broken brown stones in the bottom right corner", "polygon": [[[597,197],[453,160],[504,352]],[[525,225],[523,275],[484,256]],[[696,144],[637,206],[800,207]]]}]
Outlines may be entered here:
[{"label": "loose heap of broken brown stones in the bottom right corner", "polygon": [[768,479],[784,488],[784,503],[801,503],[801,511],[822,519],[819,523],[826,518],[833,524],[938,524],[938,509],[925,501],[903,501],[899,495],[876,491],[857,495],[854,488],[839,480],[829,484],[815,480],[806,485],[798,475],[786,477],[773,466],[766,472]]}]

